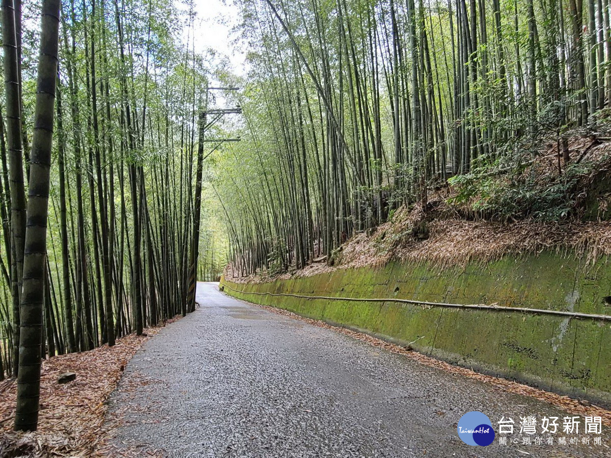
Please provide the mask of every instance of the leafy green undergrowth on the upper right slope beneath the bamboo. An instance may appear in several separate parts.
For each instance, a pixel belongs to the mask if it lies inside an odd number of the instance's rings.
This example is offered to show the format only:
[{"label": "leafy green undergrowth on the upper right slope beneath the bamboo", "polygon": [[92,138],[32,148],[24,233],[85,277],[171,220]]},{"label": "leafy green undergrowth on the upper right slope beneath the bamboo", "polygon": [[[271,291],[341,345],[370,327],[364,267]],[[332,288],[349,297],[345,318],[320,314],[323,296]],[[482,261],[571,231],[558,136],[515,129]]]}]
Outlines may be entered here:
[{"label": "leafy green undergrowth on the upper right slope beneath the bamboo", "polygon": [[611,148],[598,138],[585,139],[585,147],[583,142],[574,141],[566,164],[560,162],[560,142],[534,159],[523,150],[511,159],[480,162],[472,172],[448,180],[446,203],[466,219],[609,219]]}]

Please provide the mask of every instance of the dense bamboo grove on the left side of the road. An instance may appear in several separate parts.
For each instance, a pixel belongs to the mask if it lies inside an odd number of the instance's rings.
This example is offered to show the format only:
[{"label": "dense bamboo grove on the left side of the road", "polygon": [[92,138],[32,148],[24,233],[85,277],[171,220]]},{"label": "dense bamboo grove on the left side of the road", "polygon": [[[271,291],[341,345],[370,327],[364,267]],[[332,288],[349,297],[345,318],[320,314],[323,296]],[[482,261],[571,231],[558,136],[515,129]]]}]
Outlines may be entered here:
[{"label": "dense bamboo grove on the left side of the road", "polygon": [[194,310],[194,281],[226,263],[196,197],[210,68],[185,8],[2,0],[0,380],[18,377],[16,429],[36,427],[41,358]]}]

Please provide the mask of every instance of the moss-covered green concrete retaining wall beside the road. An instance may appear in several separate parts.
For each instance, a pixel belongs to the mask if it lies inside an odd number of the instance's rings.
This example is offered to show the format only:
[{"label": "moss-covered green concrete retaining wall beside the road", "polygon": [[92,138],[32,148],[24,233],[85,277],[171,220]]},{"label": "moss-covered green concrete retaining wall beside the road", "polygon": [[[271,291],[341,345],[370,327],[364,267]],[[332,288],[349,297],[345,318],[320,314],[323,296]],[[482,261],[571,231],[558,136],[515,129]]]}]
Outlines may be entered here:
[{"label": "moss-covered green concrete retaining wall beside the road", "polygon": [[[542,253],[503,258],[481,266],[437,269],[391,263],[379,269],[339,269],[331,274],[242,284],[246,293],[416,299],[611,314],[611,261],[586,265],[577,258]],[[521,380],[546,390],[611,405],[611,322],[507,311],[456,310],[399,304],[240,294],[310,318],[398,341],[424,354],[483,373]]]}]

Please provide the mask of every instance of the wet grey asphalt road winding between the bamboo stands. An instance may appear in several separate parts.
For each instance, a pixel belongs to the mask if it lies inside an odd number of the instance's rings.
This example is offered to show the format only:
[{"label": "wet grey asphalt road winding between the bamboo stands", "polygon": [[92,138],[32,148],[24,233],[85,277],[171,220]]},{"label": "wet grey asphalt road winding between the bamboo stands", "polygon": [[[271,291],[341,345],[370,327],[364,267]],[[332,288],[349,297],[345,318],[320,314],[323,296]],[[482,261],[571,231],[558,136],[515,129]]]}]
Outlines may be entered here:
[{"label": "wet grey asphalt road winding between the bamboo stands", "polygon": [[[519,434],[499,445],[501,416],[518,425],[559,416],[562,426],[568,414],[232,299],[214,283],[199,283],[197,301],[126,367],[108,413],[125,415],[115,445],[170,457],[611,456],[608,430],[602,445],[594,435],[590,445],[556,445],[563,434],[554,446],[522,445]],[[470,410],[492,421],[492,445],[459,440]]]}]

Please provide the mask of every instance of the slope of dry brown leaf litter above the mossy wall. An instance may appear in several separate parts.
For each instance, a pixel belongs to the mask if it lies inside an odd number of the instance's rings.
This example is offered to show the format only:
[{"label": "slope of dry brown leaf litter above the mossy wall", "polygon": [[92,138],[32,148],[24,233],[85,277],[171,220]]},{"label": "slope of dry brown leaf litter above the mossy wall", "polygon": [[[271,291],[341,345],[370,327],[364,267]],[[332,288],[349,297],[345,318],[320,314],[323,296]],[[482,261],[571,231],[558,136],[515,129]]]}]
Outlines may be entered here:
[{"label": "slope of dry brown leaf litter above the mossy wall", "polygon": [[[528,165],[518,167],[520,171],[513,175],[498,172],[476,175],[472,186],[479,189],[464,200],[457,198],[460,192],[457,185],[445,183],[430,187],[426,211],[422,205],[401,206],[388,222],[374,230],[357,231],[334,251],[332,260],[314,247],[315,261],[302,269],[293,265],[280,274],[262,271],[241,276],[229,266],[225,276],[236,283],[260,283],[337,269],[383,266],[392,260],[425,261],[437,267],[451,267],[472,261],[485,264],[505,255],[520,256],[543,250],[572,253],[587,261],[611,255],[611,214],[608,214],[611,211],[611,140],[579,136],[571,139],[573,186],[565,184],[569,179],[566,172],[560,173],[562,165],[559,168],[556,145],[547,142],[541,148],[540,154]],[[533,187],[532,194],[560,189],[557,197],[550,197],[549,205],[568,207],[571,217],[546,220],[528,214],[503,219],[486,217],[485,211],[477,210],[491,206],[491,200],[503,193],[512,192],[516,181]],[[525,198],[525,211],[531,203]],[[595,214],[586,217],[587,206],[595,208]],[[426,227],[424,236],[420,232],[422,223]]]}]

